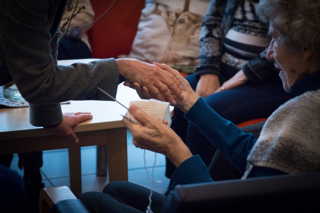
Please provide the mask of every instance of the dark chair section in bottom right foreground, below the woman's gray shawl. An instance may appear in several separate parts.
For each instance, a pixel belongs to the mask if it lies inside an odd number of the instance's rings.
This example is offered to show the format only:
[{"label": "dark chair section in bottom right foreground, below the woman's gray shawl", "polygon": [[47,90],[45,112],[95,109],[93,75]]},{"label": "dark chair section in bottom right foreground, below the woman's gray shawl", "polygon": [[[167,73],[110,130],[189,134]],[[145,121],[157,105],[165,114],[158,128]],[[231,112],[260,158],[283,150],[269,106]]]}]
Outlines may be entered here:
[{"label": "dark chair section in bottom right foreground, below the woman's gray shawl", "polygon": [[319,180],[315,172],[177,185],[161,212],[313,212]]}]

